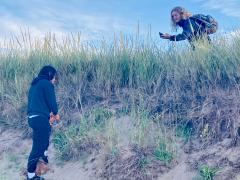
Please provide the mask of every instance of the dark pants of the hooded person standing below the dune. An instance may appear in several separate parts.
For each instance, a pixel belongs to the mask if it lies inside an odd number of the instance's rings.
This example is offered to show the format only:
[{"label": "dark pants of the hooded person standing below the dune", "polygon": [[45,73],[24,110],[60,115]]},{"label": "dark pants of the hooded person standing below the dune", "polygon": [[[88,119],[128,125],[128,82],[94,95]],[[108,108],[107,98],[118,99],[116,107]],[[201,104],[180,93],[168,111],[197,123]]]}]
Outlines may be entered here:
[{"label": "dark pants of the hooded person standing below the dune", "polygon": [[48,163],[44,152],[49,146],[49,137],[51,134],[51,126],[48,118],[37,116],[28,119],[28,124],[33,130],[32,150],[28,158],[27,170],[30,173],[35,172],[39,158]]}]

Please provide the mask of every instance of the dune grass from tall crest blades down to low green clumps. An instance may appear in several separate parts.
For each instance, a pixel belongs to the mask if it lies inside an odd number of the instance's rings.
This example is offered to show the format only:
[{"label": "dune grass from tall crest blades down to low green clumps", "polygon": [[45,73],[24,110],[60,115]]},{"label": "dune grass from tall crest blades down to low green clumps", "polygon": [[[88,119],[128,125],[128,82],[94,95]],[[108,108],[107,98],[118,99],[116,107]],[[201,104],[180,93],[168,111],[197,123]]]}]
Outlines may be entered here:
[{"label": "dune grass from tall crest blades down to low green clumps", "polygon": [[[118,115],[110,116],[105,110],[121,105],[133,124],[129,147],[140,149],[136,157],[126,160],[132,162],[130,173],[136,167],[148,167],[142,155],[149,151],[144,148],[152,149],[150,159],[171,163],[177,154],[173,131],[179,127],[184,136],[191,129],[206,144],[226,137],[238,143],[239,37],[200,44],[195,51],[162,50],[151,40],[123,36],[112,44],[97,45],[81,42],[80,36],[66,37],[61,43],[52,35],[44,40],[27,37],[2,45],[6,50],[0,54],[0,122],[29,134],[29,84],[43,65],[55,66],[60,75],[56,92],[63,126],[55,132],[54,143],[65,160],[106,144],[116,160],[121,152]],[[92,106],[106,109],[89,114]],[[120,162],[124,165],[125,160]],[[142,173],[141,168],[137,173]]]}]

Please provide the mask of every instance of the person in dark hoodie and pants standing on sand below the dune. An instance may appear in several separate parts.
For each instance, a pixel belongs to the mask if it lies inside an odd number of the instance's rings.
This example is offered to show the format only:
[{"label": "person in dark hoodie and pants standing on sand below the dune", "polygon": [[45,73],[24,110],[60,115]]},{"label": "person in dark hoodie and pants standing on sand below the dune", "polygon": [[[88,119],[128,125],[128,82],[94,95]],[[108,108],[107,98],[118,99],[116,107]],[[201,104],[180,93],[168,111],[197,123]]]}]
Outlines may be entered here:
[{"label": "person in dark hoodie and pants standing on sand below the dune", "polygon": [[43,179],[35,174],[40,158],[48,163],[47,149],[51,126],[50,113],[57,116],[58,107],[54,91],[57,71],[52,66],[44,66],[33,79],[28,92],[28,124],[33,130],[32,150],[28,158],[27,179]]}]

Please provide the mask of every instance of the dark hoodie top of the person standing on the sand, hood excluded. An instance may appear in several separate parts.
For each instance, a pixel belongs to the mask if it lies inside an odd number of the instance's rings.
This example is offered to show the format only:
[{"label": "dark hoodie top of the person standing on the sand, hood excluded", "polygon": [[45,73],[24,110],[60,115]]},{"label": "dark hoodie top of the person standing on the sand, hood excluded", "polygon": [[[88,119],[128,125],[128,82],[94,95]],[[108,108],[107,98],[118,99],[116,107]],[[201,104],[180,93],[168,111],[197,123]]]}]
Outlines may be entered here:
[{"label": "dark hoodie top of the person standing on the sand, hood excluded", "polygon": [[28,93],[28,115],[40,115],[49,118],[49,114],[58,113],[53,84],[41,79],[31,85]]}]

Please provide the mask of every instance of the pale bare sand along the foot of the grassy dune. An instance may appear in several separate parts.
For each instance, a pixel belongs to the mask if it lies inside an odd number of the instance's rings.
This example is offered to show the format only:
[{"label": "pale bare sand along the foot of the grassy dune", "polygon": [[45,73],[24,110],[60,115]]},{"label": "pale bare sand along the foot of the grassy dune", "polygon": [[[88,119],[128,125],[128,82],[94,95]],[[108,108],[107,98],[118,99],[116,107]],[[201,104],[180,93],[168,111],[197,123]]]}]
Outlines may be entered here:
[{"label": "pale bare sand along the foot of the grassy dune", "polygon": [[[122,119],[121,124],[127,129]],[[125,125],[124,125],[125,124]],[[126,132],[125,132],[126,133]],[[123,140],[126,144],[127,141]],[[124,145],[123,143],[122,145]],[[183,150],[179,154],[178,165],[166,174],[160,175],[158,180],[192,180],[196,177],[196,171],[191,169],[196,162],[221,163],[222,159],[228,159],[235,167],[238,167],[238,158],[240,158],[240,147],[227,149],[225,142],[218,143],[209,147],[205,151],[199,151],[187,155]],[[21,180],[25,179],[23,171],[26,167],[28,153],[31,149],[31,140],[21,139],[21,133],[18,131],[0,129],[0,180]],[[96,157],[88,157],[77,162],[67,162],[61,164],[55,160],[54,148],[50,146],[49,156],[51,171],[44,177],[47,180],[95,180],[96,172],[103,167],[96,164]],[[204,159],[205,158],[205,159]],[[219,162],[218,162],[219,161]],[[235,163],[235,164],[234,164]],[[240,164],[239,164],[240,166]],[[225,180],[224,175],[232,173],[228,168],[222,169],[222,174],[216,176],[217,180]],[[236,175],[235,179],[240,179],[240,168],[232,169]],[[236,171],[236,172],[235,172]],[[229,177],[229,176],[228,176]],[[111,179],[111,178],[109,178]],[[229,180],[226,179],[226,180]],[[234,180],[234,178],[232,179]]]}]

